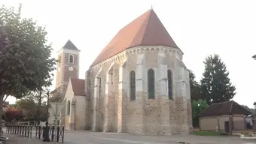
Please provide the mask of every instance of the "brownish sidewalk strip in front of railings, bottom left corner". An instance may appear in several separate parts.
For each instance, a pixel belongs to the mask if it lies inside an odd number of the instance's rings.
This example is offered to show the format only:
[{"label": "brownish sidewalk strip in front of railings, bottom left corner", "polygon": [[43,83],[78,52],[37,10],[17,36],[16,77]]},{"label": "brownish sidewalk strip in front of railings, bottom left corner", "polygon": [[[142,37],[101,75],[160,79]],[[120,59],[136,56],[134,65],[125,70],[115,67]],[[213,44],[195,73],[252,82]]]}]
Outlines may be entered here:
[{"label": "brownish sidewalk strip in front of railings, bottom left corner", "polygon": [[15,134],[4,133],[4,136],[7,136],[9,140],[6,144],[45,144],[45,143],[54,143],[54,142],[43,142],[43,139],[36,138],[27,138],[23,136],[18,136]]}]

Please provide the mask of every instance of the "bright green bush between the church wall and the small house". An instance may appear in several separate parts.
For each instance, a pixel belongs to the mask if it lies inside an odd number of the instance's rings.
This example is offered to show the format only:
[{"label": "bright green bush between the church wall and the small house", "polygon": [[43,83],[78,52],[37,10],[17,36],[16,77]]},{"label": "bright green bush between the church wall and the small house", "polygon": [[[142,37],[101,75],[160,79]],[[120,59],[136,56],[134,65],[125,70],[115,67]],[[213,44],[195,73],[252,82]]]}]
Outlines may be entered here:
[{"label": "bright green bush between the church wall and the small house", "polygon": [[193,127],[199,127],[199,114],[206,110],[207,107],[208,104],[205,100],[192,101]]}]

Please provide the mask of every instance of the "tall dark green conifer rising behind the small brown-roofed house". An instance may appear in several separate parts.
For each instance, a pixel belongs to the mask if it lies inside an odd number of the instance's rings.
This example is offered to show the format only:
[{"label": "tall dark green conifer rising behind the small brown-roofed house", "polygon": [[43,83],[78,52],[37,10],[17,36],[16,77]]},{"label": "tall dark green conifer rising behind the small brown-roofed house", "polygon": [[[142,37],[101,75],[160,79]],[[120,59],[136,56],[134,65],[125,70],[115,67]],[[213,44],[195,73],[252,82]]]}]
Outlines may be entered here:
[{"label": "tall dark green conifer rising behind the small brown-roofed house", "polygon": [[201,80],[203,99],[207,104],[230,101],[236,95],[236,87],[230,82],[229,72],[219,55],[209,55],[206,58],[205,71]]}]

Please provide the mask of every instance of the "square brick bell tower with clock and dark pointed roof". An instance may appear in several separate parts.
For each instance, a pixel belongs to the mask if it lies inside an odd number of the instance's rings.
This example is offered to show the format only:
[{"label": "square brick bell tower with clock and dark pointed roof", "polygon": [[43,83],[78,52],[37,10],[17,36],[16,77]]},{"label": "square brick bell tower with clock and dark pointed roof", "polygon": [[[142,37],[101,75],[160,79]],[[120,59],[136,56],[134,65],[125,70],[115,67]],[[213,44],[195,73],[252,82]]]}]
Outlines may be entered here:
[{"label": "square brick bell tower with clock and dark pointed roof", "polygon": [[64,97],[69,83],[69,78],[79,77],[79,52],[80,50],[68,40],[66,44],[59,49],[57,71],[56,71],[56,89],[60,88],[60,94]]}]

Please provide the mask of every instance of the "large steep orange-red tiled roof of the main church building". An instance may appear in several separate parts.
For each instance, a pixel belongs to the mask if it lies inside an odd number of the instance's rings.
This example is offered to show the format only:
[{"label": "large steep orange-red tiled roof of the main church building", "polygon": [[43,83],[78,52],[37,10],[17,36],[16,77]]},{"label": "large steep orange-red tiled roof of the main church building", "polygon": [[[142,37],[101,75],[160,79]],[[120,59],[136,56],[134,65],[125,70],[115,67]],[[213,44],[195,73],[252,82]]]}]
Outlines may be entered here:
[{"label": "large steep orange-red tiled roof of the main church building", "polygon": [[140,17],[118,31],[102,49],[93,65],[134,46],[170,46],[178,48],[154,10],[148,10]]}]

